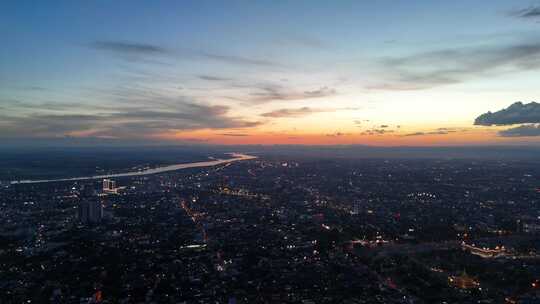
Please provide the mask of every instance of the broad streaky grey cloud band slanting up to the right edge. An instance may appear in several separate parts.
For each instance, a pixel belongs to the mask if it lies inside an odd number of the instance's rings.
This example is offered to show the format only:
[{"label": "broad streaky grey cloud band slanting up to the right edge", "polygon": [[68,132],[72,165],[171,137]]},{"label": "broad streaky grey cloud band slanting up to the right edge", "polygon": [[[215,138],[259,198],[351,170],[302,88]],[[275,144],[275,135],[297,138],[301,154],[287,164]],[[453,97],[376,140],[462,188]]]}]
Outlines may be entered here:
[{"label": "broad streaky grey cloud band slanting up to the right edge", "polygon": [[380,61],[388,81],[371,89],[422,90],[461,83],[479,76],[540,68],[540,43],[443,49]]}]

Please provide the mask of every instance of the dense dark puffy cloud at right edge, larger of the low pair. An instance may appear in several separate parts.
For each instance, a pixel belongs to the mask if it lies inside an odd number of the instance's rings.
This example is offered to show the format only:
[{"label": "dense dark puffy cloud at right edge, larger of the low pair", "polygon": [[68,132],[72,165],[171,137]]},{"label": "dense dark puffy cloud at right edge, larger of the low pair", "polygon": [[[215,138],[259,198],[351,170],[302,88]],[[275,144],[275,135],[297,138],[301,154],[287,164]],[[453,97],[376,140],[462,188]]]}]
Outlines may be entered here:
[{"label": "dense dark puffy cloud at right edge, larger of the low pair", "polygon": [[540,123],[540,103],[516,102],[506,109],[478,116],[474,124],[480,126]]}]

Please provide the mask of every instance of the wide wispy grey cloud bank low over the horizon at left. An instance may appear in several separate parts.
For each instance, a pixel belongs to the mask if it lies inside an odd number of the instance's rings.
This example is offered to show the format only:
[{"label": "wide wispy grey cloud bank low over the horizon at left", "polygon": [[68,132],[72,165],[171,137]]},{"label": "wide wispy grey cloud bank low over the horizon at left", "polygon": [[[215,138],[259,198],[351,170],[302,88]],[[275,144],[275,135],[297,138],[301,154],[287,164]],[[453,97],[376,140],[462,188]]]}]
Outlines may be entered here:
[{"label": "wide wispy grey cloud bank low over the horizon at left", "polygon": [[[34,111],[19,116],[0,116],[0,137],[89,136],[100,138],[144,138],[167,132],[200,129],[242,129],[257,121],[229,116],[229,108],[187,100],[133,100],[95,114],[45,114]],[[72,109],[77,110],[77,109]],[[84,111],[88,113],[88,111]]]}]

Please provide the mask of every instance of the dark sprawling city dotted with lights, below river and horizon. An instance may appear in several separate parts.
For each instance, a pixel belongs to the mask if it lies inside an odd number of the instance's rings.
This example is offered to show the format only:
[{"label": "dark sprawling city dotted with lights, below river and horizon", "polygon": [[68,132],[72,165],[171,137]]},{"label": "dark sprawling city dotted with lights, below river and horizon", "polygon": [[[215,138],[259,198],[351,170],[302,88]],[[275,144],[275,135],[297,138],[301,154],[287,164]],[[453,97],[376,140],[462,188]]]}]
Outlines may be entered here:
[{"label": "dark sprawling city dotted with lights, below river and horizon", "polygon": [[1,303],[538,303],[540,165],[256,159],[2,182]]}]

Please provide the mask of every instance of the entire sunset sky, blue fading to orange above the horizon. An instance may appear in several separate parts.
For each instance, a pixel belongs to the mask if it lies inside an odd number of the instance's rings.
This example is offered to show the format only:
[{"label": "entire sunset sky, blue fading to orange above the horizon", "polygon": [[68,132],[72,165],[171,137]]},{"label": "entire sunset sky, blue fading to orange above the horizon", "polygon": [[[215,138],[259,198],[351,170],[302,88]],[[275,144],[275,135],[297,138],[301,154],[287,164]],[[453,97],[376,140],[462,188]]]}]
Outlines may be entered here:
[{"label": "entire sunset sky, blue fading to orange above the horizon", "polygon": [[540,143],[539,1],[1,1],[0,142]]}]

